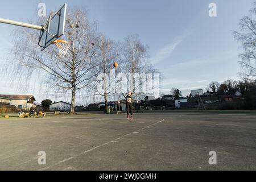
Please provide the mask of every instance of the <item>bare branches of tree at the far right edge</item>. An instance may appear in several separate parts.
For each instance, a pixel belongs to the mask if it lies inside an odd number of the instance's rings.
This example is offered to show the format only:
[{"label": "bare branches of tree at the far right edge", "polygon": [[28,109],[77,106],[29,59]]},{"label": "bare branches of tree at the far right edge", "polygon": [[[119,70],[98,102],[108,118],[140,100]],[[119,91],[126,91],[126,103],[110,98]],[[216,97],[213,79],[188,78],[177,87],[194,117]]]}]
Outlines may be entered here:
[{"label": "bare branches of tree at the far right edge", "polygon": [[241,42],[243,53],[239,63],[246,68],[246,76],[256,76],[256,2],[249,13],[240,20],[240,30],[234,31],[234,38]]}]

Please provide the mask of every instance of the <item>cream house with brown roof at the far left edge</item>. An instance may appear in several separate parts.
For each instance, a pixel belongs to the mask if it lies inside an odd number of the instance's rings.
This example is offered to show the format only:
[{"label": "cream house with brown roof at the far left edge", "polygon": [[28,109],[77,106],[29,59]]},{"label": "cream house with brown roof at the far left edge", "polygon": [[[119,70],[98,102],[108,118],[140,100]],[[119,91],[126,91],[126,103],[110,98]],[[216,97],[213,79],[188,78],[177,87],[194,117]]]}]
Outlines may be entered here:
[{"label": "cream house with brown roof at the far left edge", "polygon": [[28,110],[34,104],[35,97],[32,95],[4,95],[0,94],[0,102],[16,106],[17,109]]}]

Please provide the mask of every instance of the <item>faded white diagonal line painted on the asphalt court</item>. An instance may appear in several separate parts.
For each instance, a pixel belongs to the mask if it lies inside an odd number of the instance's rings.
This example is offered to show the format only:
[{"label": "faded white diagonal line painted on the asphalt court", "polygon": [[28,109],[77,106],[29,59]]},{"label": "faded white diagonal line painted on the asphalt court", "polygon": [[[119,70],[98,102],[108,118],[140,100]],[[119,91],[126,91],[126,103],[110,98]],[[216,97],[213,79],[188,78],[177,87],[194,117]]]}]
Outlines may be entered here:
[{"label": "faded white diagonal line painted on the asphalt court", "polygon": [[46,169],[48,169],[48,168],[51,168],[51,167],[53,167],[53,166],[57,166],[57,165],[59,165],[59,164],[61,164],[61,163],[67,162],[68,160],[74,159],[74,158],[76,158],[76,157],[78,157],[78,156],[80,156],[80,155],[83,155],[83,154],[86,154],[86,153],[88,153],[88,152],[90,152],[90,151],[93,151],[93,150],[95,150],[96,148],[103,147],[103,146],[105,146],[105,145],[107,145],[107,144],[109,144],[109,143],[117,142],[117,140],[119,140],[119,139],[122,139],[122,138],[127,137],[127,136],[129,136],[129,135],[131,135],[131,134],[134,134],[134,133],[138,133],[139,131],[142,131],[142,130],[144,130],[144,129],[147,129],[147,128],[151,127],[151,126],[158,125],[159,123],[161,123],[161,122],[163,122],[163,121],[165,121],[165,119],[162,119],[161,121],[158,121],[158,122],[156,122],[156,123],[154,123],[154,124],[152,124],[152,125],[148,125],[148,126],[146,126],[146,127],[143,127],[142,129],[133,131],[133,132],[131,132],[131,133],[129,133],[129,134],[123,135],[122,137],[118,137],[118,138],[116,138],[116,139],[114,139],[114,140],[111,140],[111,141],[109,141],[109,142],[103,143],[103,144],[101,144],[101,145],[99,145],[99,146],[90,148],[89,150],[86,150],[86,151],[84,151],[84,152],[81,152],[80,154],[74,155],[74,156],[72,156],[72,157],[70,157],[70,158],[67,158],[67,159],[61,160],[60,162],[57,162],[57,163],[55,163],[55,164],[52,164],[51,166],[48,166],[48,167],[39,169],[39,171],[44,171],[44,170],[46,170]]}]

